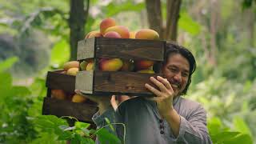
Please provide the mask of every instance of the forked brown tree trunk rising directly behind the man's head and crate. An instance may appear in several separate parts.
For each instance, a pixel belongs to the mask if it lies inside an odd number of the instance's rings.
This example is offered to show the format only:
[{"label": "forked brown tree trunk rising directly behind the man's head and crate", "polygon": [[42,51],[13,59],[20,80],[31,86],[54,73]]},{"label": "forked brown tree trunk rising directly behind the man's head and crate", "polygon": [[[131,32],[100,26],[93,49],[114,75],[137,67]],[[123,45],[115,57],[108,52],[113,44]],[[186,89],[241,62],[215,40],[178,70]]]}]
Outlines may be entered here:
[{"label": "forked brown tree trunk rising directly behind the man's head and crate", "polygon": [[182,0],[166,1],[167,19],[163,24],[160,0],[146,0],[147,18],[150,29],[156,30],[161,39],[176,41],[178,18]]}]

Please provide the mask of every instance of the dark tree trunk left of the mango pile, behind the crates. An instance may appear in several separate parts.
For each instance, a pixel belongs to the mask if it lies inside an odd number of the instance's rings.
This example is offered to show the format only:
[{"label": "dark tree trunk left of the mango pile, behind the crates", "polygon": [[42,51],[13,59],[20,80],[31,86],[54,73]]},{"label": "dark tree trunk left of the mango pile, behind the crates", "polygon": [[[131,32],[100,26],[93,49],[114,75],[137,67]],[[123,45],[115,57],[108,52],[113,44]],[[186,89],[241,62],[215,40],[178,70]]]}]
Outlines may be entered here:
[{"label": "dark tree trunk left of the mango pile, behind the crates", "polygon": [[76,60],[78,41],[84,38],[86,18],[89,10],[89,0],[86,1],[86,10],[84,10],[83,0],[70,0],[70,61]]}]

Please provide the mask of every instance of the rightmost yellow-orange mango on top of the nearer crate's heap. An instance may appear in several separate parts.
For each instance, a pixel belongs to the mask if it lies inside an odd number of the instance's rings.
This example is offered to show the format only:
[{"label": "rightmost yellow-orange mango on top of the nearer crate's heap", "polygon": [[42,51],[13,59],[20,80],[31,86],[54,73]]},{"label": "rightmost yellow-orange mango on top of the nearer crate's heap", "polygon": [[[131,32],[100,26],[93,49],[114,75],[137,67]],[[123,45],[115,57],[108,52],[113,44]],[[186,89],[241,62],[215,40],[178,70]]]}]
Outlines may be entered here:
[{"label": "rightmost yellow-orange mango on top of the nearer crate's heap", "polygon": [[136,39],[149,39],[149,40],[158,40],[159,39],[159,34],[158,32],[150,29],[142,29],[139,30],[135,34]]}]

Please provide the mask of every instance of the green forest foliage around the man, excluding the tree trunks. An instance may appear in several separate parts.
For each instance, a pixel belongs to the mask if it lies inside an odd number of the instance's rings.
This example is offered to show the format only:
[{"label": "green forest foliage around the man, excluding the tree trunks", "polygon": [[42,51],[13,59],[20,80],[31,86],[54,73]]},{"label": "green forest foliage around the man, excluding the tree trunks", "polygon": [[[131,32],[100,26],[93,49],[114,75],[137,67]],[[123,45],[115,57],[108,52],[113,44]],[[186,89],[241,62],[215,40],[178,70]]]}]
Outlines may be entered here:
[{"label": "green forest foliage around the man, excluding the tree trunks", "polygon": [[[42,100],[46,96],[46,71],[61,68],[70,55],[69,1],[0,2],[0,33],[6,37],[10,35],[5,41],[7,43],[0,46],[0,143],[66,143],[67,139],[92,142],[88,134],[96,131],[88,130],[88,124],[76,122],[70,127],[61,118],[41,115]],[[198,63],[188,98],[201,102],[206,108],[214,143],[256,142],[255,41],[254,45],[249,44],[252,29],[246,25],[248,17],[242,10],[254,8],[255,1],[218,2],[217,65],[212,66],[207,59],[213,37],[210,30],[211,3],[182,1],[178,22],[181,44],[193,52]],[[166,1],[162,4],[166,5]],[[145,3],[142,1],[92,0],[86,33],[97,30],[98,23],[106,17],[113,17],[119,24],[138,30],[146,26],[142,25],[146,19],[144,12]],[[166,10],[163,12],[166,19]],[[14,68],[15,65],[22,70]],[[14,85],[18,78],[13,74],[19,71],[22,74],[19,78],[32,76],[33,83]],[[98,132],[101,134],[102,141],[115,139],[106,134],[106,130]]]}]

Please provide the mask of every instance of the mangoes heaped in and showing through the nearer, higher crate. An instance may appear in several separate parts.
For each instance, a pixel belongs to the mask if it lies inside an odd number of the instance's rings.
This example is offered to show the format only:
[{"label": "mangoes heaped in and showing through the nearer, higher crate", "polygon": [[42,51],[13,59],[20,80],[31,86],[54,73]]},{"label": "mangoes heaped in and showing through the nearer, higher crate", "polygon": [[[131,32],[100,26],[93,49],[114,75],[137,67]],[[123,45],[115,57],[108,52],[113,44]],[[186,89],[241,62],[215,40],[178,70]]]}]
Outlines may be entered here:
[{"label": "mangoes heaped in and showing through the nearer, higher crate", "polygon": [[[159,40],[159,34],[150,29],[142,29],[137,32],[129,31],[126,26],[118,26],[113,18],[103,19],[98,31],[91,31],[86,34],[86,38],[106,37],[106,38],[135,38]],[[121,58],[101,58],[98,63],[98,70],[102,71],[134,71],[139,73],[154,74],[153,61],[149,60],[126,60]],[[82,62],[81,70],[94,70],[93,59],[86,59]]]}]

